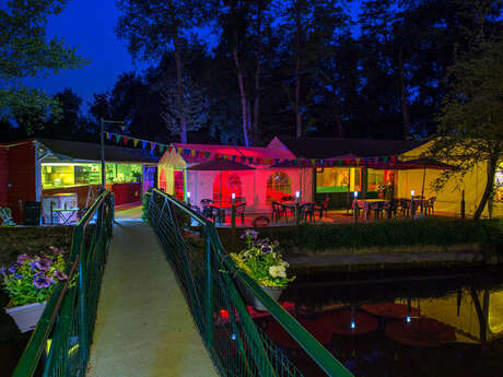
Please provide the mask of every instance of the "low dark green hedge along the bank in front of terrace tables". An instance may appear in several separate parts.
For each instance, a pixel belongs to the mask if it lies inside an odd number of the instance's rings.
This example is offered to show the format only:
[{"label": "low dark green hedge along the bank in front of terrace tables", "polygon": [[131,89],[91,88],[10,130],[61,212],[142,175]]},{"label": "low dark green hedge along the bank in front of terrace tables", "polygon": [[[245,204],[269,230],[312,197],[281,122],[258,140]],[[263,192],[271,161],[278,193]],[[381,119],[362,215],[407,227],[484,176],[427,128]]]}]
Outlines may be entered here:
[{"label": "low dark green hedge along the bank in front of terrace tables", "polygon": [[[317,254],[327,250],[454,245],[480,245],[484,251],[503,251],[503,226],[498,221],[471,220],[391,220],[375,223],[305,225],[260,228],[289,254]],[[225,246],[233,244],[232,233],[219,228]]]}]

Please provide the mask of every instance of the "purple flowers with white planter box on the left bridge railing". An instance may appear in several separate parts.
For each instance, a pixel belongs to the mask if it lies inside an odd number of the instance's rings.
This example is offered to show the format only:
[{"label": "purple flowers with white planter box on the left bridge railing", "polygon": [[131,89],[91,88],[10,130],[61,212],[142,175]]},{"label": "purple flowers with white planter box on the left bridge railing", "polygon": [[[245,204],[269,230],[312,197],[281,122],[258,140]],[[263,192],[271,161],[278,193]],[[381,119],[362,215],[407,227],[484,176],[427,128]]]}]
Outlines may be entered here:
[{"label": "purple flowers with white planter box on the left bridge railing", "polygon": [[56,247],[51,250],[51,255],[35,257],[23,254],[14,264],[0,269],[2,285],[11,298],[5,313],[14,319],[21,332],[36,327],[56,284],[68,279],[63,272],[65,251]]}]

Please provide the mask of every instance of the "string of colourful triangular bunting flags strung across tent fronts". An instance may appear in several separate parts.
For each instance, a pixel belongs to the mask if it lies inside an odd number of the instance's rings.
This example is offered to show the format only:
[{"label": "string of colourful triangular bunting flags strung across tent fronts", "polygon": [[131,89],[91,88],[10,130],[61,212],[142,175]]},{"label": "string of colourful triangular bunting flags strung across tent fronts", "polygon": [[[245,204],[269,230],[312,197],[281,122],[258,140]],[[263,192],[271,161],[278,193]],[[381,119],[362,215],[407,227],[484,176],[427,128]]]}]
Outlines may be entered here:
[{"label": "string of colourful triangular bunting flags strung across tent fronts", "polygon": [[[132,146],[138,148],[141,145],[142,149],[150,149],[152,152],[159,151],[160,153],[176,153],[185,157],[194,157],[200,160],[227,160],[231,162],[238,162],[242,164],[249,165],[280,165],[283,167],[293,166],[293,167],[324,167],[324,166],[362,166],[362,167],[373,167],[375,165],[382,166],[391,164],[389,167],[393,169],[393,164],[399,162],[396,155],[391,156],[373,156],[373,157],[353,157],[353,158],[270,158],[270,157],[252,157],[244,156],[242,154],[229,154],[229,153],[212,153],[208,151],[199,151],[197,149],[188,149],[174,146],[168,144],[163,144],[154,141],[132,138],[130,136],[118,134],[115,132],[105,132],[107,140],[115,139],[116,144],[124,144],[127,146],[130,141],[132,141]],[[278,166],[279,167],[279,166]]]}]

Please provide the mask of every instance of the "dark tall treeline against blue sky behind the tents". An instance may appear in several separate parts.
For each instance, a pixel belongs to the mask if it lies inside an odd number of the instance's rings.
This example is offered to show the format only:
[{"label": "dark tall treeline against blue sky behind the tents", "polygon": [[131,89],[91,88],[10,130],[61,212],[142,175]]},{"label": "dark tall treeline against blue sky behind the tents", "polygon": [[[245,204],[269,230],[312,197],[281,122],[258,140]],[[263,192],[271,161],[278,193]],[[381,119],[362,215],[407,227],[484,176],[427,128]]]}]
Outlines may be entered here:
[{"label": "dark tall treeline against blue sky behind the tents", "polygon": [[[59,121],[48,119],[36,136],[97,140],[97,120],[106,118],[126,119],[126,133],[161,142],[425,138],[436,130],[447,68],[478,38],[502,30],[499,0],[120,0],[118,7],[117,36],[150,68],[125,72],[94,95],[85,115],[74,92],[58,93]],[[20,125],[25,116],[16,116]]]}]

